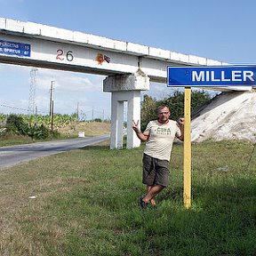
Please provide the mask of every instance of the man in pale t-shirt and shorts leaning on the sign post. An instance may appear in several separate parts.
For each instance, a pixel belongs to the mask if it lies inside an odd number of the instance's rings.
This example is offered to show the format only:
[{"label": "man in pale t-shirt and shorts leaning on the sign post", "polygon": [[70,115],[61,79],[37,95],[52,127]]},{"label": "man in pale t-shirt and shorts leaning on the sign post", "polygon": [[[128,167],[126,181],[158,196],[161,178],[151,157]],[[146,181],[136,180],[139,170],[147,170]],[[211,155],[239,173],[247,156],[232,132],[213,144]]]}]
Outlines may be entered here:
[{"label": "man in pale t-shirt and shorts leaning on the sign post", "polygon": [[146,141],[142,183],[147,185],[147,194],[139,199],[141,209],[145,209],[149,202],[156,205],[155,196],[168,185],[173,140],[175,137],[183,140],[184,118],[178,122],[169,119],[171,112],[166,106],[157,108],[157,116],[158,119],[150,121],[143,133],[139,130],[139,121],[132,122],[137,137]]}]

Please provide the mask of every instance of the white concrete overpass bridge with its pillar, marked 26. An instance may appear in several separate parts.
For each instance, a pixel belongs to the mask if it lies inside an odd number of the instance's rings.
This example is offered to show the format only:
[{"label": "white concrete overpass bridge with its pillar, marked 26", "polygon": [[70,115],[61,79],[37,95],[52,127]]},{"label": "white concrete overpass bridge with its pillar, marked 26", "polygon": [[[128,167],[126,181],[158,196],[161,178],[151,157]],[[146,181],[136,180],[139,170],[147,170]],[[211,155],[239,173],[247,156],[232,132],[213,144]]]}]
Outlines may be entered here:
[{"label": "white concrete overpass bridge with its pillar, marked 26", "polygon": [[[140,92],[149,81],[166,84],[167,66],[228,65],[218,60],[117,41],[78,31],[0,18],[0,62],[107,76],[111,92],[110,148],[123,148],[124,101],[127,101],[127,148],[140,146],[132,119],[140,120]],[[72,90],[72,89],[70,89]],[[219,87],[248,91],[251,87]]]}]

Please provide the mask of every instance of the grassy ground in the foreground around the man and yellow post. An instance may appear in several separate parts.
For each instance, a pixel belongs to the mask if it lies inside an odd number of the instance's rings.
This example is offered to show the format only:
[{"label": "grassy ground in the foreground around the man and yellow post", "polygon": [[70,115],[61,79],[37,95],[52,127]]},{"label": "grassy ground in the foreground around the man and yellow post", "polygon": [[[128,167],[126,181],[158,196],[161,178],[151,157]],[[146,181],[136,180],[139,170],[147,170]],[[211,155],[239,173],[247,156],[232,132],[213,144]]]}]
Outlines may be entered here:
[{"label": "grassy ground in the foreground around the man and yellow post", "polygon": [[139,209],[143,147],[101,143],[2,169],[0,255],[256,255],[252,144],[193,145],[189,210],[181,144],[156,209]]}]

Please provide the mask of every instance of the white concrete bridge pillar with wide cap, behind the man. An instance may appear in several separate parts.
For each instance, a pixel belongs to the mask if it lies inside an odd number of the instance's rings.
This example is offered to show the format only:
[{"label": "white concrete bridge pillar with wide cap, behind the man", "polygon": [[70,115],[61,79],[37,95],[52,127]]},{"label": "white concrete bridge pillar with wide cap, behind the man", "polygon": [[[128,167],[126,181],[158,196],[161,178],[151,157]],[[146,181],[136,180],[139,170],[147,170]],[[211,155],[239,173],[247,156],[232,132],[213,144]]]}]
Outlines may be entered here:
[{"label": "white concrete bridge pillar with wide cap, behind the man", "polygon": [[110,148],[124,145],[124,102],[127,102],[126,148],[140,147],[140,140],[132,130],[132,120],[140,120],[140,92],[149,89],[149,78],[140,69],[132,75],[108,76],[103,91],[111,92]]}]

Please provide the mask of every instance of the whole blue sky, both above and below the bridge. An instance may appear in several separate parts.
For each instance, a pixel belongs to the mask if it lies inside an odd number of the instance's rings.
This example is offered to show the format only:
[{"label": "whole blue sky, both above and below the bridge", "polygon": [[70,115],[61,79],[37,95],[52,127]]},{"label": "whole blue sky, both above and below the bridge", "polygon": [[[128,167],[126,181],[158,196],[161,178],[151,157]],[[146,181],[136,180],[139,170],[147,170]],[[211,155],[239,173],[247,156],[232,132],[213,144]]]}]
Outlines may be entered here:
[{"label": "whole blue sky, both above and below the bridge", "polygon": [[[0,0],[0,6],[1,18],[229,64],[255,64],[256,60],[255,0]],[[32,68],[0,64],[0,113],[28,114]],[[49,113],[54,81],[54,113],[73,114],[78,109],[80,118],[110,118],[111,95],[102,90],[105,76],[37,69],[35,101],[39,114]],[[72,90],[70,84],[74,84]],[[158,100],[168,96],[171,89],[152,83],[143,93]]]}]

